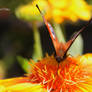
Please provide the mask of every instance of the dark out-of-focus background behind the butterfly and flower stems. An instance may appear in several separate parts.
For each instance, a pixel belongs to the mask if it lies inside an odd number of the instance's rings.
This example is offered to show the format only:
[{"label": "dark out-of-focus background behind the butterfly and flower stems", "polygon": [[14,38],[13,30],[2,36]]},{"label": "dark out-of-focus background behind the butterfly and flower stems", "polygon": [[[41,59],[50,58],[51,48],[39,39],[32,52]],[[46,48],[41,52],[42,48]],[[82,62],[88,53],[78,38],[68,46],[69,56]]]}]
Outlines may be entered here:
[{"label": "dark out-of-focus background behind the butterfly and flower stems", "polygon": [[[32,0],[0,0],[0,77],[11,78],[23,76],[26,72],[19,63],[20,58],[29,60],[34,53],[34,30],[31,21],[20,19],[14,9],[21,4],[26,5]],[[34,1],[34,0],[33,0]],[[92,0],[86,0],[92,4]],[[31,11],[30,11],[31,12]],[[79,19],[76,22],[64,23],[66,40],[69,40],[75,31],[82,28],[88,21]],[[38,23],[39,24],[39,23]],[[53,24],[54,25],[54,24]],[[59,24],[62,26],[61,24]],[[43,57],[46,53],[52,55],[54,47],[46,26],[41,21],[38,25]],[[81,33],[83,38],[83,54],[92,53],[92,23]],[[61,38],[60,38],[61,39]],[[70,53],[71,54],[71,53]],[[20,57],[20,58],[18,58]],[[21,60],[22,60],[21,59]],[[26,61],[26,60],[25,60]]]}]

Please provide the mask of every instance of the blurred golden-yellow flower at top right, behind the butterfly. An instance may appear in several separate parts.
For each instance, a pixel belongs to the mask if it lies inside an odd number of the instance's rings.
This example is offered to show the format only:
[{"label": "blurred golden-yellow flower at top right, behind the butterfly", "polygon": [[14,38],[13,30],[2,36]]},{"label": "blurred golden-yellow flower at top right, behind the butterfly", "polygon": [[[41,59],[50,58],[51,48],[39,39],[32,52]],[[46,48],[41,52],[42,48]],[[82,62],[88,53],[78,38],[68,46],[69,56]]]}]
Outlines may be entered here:
[{"label": "blurred golden-yellow flower at top right, behind the butterfly", "polygon": [[84,0],[48,0],[48,3],[49,11],[46,17],[53,18],[58,23],[64,20],[77,21],[91,18],[91,6]]}]

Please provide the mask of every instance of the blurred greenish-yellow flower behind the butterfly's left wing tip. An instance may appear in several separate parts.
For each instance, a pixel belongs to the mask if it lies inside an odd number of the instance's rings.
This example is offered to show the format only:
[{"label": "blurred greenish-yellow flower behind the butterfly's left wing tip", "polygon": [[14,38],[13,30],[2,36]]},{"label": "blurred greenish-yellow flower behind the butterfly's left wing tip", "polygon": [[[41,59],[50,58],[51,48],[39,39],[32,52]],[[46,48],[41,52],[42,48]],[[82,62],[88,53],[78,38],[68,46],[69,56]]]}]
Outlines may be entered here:
[{"label": "blurred greenish-yellow flower behind the butterfly's left wing tip", "polygon": [[16,15],[19,18],[25,19],[27,21],[41,21],[42,17],[39,11],[36,8],[36,4],[39,4],[41,10],[44,10],[47,7],[46,0],[35,0],[30,2],[27,5],[20,6],[16,9]]}]

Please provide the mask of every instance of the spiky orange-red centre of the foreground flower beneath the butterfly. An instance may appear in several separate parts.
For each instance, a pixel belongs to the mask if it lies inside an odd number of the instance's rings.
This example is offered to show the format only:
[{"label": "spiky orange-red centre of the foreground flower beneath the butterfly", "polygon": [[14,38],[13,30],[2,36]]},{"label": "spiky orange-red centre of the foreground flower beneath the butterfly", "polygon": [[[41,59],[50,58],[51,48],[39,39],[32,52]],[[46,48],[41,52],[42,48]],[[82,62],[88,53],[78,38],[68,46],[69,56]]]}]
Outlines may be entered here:
[{"label": "spiky orange-red centre of the foreground flower beneath the butterfly", "polygon": [[47,92],[84,92],[83,85],[92,84],[92,72],[77,58],[68,56],[59,64],[54,56],[45,57],[33,65],[30,81],[40,83]]}]

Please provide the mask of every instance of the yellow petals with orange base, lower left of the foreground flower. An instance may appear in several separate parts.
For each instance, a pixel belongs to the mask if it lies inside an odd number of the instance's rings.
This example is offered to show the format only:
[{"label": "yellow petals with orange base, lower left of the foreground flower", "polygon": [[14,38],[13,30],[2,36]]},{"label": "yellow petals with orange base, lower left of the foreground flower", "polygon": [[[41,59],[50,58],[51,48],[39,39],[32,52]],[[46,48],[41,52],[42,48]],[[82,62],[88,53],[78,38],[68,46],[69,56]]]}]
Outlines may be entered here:
[{"label": "yellow petals with orange base, lower left of the foreground flower", "polygon": [[47,92],[42,85],[30,83],[29,78],[20,77],[0,80],[0,92]]}]

